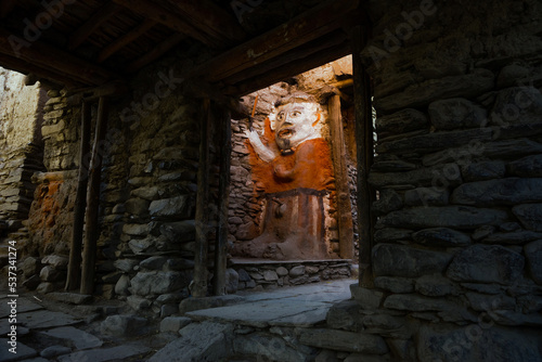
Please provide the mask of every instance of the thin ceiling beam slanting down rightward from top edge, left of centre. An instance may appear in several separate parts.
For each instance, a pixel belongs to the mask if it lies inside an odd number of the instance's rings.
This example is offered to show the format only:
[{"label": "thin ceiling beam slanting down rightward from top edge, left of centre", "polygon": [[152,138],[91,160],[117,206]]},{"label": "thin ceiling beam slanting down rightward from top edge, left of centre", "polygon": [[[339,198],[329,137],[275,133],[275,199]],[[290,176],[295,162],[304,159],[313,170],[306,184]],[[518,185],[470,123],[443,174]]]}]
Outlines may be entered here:
[{"label": "thin ceiling beam slanting down rightward from top edge, left of centre", "polygon": [[136,14],[143,17],[151,18],[156,23],[160,23],[171,30],[180,34],[188,35],[204,44],[211,48],[220,48],[220,44],[215,39],[210,38],[207,34],[201,31],[193,25],[189,24],[179,14],[167,11],[158,4],[149,0],[113,0],[115,3],[129,9]]}]

